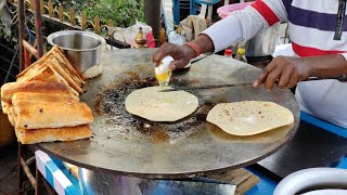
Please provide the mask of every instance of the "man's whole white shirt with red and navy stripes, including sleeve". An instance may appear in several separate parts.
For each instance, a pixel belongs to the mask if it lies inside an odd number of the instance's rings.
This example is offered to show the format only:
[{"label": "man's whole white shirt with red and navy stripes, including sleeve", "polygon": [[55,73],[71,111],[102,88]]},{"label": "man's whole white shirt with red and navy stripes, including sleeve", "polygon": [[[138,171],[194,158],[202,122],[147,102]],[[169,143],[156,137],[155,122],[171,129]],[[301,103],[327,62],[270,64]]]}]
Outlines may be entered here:
[{"label": "man's whole white shirt with red and navy stripes, including sleeve", "polygon": [[[210,37],[216,52],[260,30],[287,22],[297,56],[342,54],[347,58],[347,17],[340,40],[334,40],[338,0],[257,0],[243,11],[216,23],[203,34]],[[335,80],[298,83],[296,99],[301,110],[347,128],[347,83]]]}]

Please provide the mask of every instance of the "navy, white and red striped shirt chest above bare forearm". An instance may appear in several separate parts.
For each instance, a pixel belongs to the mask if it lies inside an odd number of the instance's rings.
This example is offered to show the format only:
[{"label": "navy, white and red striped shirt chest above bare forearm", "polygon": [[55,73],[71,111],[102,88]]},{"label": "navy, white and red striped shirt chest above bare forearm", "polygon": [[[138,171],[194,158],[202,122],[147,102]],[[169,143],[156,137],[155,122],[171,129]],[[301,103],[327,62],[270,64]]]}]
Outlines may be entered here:
[{"label": "navy, white and red striped shirt chest above bare forearm", "polygon": [[290,38],[297,55],[347,52],[347,17],[340,40],[334,40],[338,0],[293,0],[286,10]]}]

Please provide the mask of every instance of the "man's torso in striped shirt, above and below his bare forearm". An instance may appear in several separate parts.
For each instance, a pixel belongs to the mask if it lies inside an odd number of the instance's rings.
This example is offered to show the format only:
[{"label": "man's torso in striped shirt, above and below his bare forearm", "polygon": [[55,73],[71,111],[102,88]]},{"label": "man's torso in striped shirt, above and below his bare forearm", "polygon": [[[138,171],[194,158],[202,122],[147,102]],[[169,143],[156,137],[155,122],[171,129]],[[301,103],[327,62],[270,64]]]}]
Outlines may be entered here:
[{"label": "man's torso in striped shirt, above and below his bare forearm", "polygon": [[[290,38],[301,57],[347,53],[347,17],[340,40],[334,40],[338,0],[293,0],[286,8]],[[335,80],[300,82],[296,99],[304,112],[347,128],[347,83]]]}]

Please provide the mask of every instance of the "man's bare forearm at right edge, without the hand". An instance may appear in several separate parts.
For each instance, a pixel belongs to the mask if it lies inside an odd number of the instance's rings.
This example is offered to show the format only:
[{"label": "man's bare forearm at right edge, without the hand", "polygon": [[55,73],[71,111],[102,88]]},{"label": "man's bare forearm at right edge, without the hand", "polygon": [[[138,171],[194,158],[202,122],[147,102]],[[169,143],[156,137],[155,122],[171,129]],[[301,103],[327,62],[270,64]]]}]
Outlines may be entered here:
[{"label": "man's bare forearm at right edge, without the hand", "polygon": [[311,68],[311,77],[335,77],[347,74],[347,61],[340,54],[303,58]]}]

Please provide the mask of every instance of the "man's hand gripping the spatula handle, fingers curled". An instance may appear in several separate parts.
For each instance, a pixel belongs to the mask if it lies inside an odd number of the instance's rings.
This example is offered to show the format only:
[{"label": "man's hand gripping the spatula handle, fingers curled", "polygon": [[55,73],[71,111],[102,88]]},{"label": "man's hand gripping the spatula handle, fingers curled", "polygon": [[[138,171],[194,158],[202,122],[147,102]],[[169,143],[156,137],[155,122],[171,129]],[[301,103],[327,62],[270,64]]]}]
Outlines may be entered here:
[{"label": "man's hand gripping the spatula handle, fingers curled", "polygon": [[279,56],[264,69],[254,81],[254,87],[265,82],[267,89],[272,89],[277,82],[279,88],[293,88],[297,82],[306,80],[312,73],[311,63],[300,57]]}]

